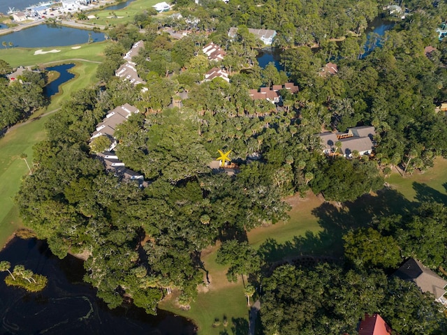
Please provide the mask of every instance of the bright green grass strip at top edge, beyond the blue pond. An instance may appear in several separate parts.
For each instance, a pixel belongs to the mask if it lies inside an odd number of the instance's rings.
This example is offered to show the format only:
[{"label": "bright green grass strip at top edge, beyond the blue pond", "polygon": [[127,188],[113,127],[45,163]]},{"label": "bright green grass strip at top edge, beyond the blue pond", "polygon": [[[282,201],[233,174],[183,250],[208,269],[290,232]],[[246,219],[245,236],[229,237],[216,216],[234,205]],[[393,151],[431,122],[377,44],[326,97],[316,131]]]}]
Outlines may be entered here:
[{"label": "bright green grass strip at top edge, beyond the blue pond", "polygon": [[141,13],[142,10],[151,8],[158,2],[160,1],[137,0],[131,2],[126,8],[120,10],[110,10],[108,8],[104,8],[103,10],[92,10],[91,12],[87,13],[87,15],[96,15],[98,18],[88,21],[89,23],[95,23],[106,27],[133,22],[133,17],[135,14]]}]

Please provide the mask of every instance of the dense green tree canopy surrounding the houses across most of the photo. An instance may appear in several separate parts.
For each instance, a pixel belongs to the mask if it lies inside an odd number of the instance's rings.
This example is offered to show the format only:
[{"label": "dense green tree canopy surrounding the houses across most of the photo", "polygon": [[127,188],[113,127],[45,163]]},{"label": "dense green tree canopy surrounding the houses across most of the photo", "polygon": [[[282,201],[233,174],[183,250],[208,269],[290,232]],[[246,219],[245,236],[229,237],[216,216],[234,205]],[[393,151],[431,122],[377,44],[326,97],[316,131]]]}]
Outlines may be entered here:
[{"label": "dense green tree canopy surrounding the houses across most of the photo", "polygon": [[[443,199],[421,199],[405,213],[378,213],[362,218],[360,228],[343,227],[342,255],[312,265],[272,262],[247,238],[256,227],[287,221],[289,195],[313,192],[343,208],[380,192],[392,168],[413,174],[447,158],[447,119],[435,108],[447,101],[447,42],[436,33],[447,19],[445,4],[409,1],[408,17],[396,19],[383,10],[388,3],[372,0],[200,2],[175,3],[195,21],[142,13],[108,29],[100,83],[73,92],[34,147],[34,171],[16,199],[24,223],[59,258],[84,255],[85,281],[110,308],[133,301],[156,314],[173,291],[187,308],[198,285],[210,284],[203,250],[219,246],[216,262],[228,281],[242,279],[248,304],[261,299],[266,334],[354,334],[365,313],[381,313],[399,334],[446,334],[441,305],[392,276],[406,258],[445,274]],[[365,53],[366,29],[378,15],[393,27],[380,37],[369,34]],[[194,34],[174,40],[164,27]],[[233,39],[230,27],[239,28]],[[282,68],[258,65],[262,43],[248,27],[277,31]],[[145,44],[133,61],[147,84],[133,87],[115,70],[138,40]],[[201,52],[210,41],[226,50],[223,61]],[[436,50],[426,54],[429,45]],[[328,61],[337,62],[335,75],[321,74]],[[214,66],[225,68],[230,82],[204,82]],[[279,105],[249,96],[249,89],[286,82],[299,91],[282,90]],[[5,108],[31,92],[3,84]],[[15,108],[29,112],[39,103]],[[110,146],[109,138],[90,142],[96,124],[124,103],[140,112],[117,128],[115,152],[144,175],[146,187],[105,172],[96,153]],[[0,126],[20,119],[14,115]],[[374,155],[322,154],[317,133],[364,125],[376,129]],[[218,150],[231,150],[238,173],[210,168]],[[9,266],[2,262],[1,269]]]}]

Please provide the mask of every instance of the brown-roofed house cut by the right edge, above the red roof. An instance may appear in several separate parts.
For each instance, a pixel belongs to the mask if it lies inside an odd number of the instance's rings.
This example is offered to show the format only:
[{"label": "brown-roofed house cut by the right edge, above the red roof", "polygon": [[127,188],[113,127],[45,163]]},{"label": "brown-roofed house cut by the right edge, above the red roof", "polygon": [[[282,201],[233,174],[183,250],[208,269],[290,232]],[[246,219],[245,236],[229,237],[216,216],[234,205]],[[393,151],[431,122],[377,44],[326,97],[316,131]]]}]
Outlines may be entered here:
[{"label": "brown-roofed house cut by the right edge, above the red roof", "polygon": [[410,258],[404,265],[397,269],[395,276],[404,281],[412,281],[419,286],[422,292],[430,292],[434,299],[441,304],[447,305],[446,290],[447,281],[435,274],[432,270],[425,267],[421,262]]}]

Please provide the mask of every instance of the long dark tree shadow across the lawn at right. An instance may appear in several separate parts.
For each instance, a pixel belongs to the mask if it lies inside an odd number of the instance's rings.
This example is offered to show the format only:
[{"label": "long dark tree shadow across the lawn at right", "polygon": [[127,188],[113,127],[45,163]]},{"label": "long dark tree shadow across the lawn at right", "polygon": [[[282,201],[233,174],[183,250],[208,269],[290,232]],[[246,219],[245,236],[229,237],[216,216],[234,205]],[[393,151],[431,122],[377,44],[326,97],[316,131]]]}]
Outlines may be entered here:
[{"label": "long dark tree shadow across the lawn at right", "polygon": [[344,253],[342,239],[344,234],[350,230],[372,225],[376,217],[408,214],[412,207],[414,207],[412,202],[390,188],[379,191],[377,195],[364,195],[354,202],[342,204],[341,207],[324,202],[312,210],[312,214],[318,218],[321,232],[308,231],[304,236],[294,236],[291,241],[286,241],[284,244],[268,239],[260,246],[259,253],[267,263],[267,267],[281,261],[293,260],[307,264],[341,260]]}]

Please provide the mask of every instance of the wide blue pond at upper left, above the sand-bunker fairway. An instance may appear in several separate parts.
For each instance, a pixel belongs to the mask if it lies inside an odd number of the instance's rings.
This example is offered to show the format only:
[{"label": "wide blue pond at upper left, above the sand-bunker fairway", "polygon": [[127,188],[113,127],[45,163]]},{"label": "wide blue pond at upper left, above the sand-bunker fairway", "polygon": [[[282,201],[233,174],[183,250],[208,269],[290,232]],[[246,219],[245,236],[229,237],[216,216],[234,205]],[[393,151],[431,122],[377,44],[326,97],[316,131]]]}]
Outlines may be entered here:
[{"label": "wide blue pond at upper left, above the sand-bunker fairway", "polygon": [[40,24],[0,36],[0,42],[12,42],[15,47],[63,47],[87,43],[89,34],[94,42],[105,40],[103,33],[91,30],[62,27],[57,24]]}]

